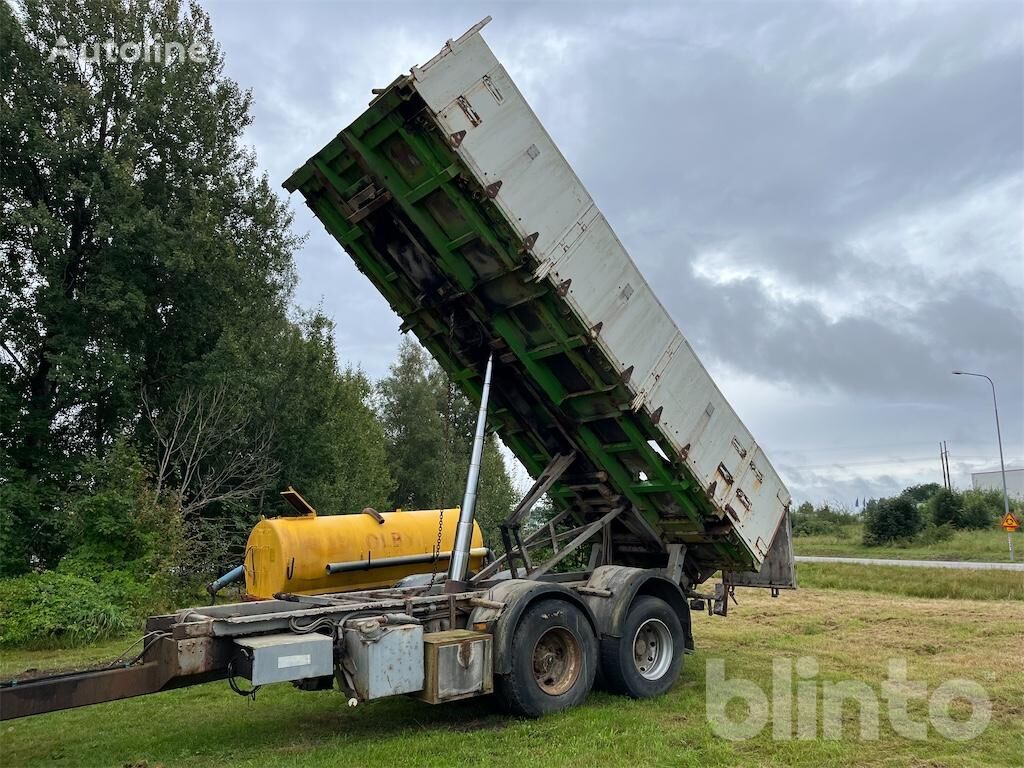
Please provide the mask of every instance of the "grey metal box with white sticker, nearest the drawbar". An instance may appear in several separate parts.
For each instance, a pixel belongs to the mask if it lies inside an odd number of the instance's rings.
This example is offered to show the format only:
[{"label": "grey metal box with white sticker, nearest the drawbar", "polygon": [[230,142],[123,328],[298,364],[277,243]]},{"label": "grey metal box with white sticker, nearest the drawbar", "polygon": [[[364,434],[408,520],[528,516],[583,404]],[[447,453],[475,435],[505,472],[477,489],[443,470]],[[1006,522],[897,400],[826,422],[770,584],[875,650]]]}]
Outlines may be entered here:
[{"label": "grey metal box with white sticker, nearest the drawbar", "polygon": [[234,643],[246,655],[253,685],[334,674],[334,642],[327,635],[260,635]]}]

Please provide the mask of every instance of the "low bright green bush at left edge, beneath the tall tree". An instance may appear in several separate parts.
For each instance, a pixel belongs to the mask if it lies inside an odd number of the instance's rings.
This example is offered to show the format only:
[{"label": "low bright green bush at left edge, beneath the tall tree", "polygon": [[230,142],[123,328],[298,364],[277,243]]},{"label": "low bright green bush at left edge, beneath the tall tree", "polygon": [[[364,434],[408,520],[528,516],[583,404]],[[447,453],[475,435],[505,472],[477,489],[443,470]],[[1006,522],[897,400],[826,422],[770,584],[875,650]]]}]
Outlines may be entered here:
[{"label": "low bright green bush at left edge, beneath the tall tree", "polygon": [[60,570],[0,580],[0,645],[82,645],[138,629],[145,589],[124,573]]}]

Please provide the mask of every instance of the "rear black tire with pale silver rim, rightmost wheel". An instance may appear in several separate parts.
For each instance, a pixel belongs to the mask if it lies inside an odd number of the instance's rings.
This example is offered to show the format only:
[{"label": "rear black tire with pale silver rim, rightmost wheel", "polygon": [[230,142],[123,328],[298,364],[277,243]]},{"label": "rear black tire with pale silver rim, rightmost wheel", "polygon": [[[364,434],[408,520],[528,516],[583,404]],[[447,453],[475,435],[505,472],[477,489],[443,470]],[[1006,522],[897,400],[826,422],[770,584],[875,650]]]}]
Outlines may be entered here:
[{"label": "rear black tire with pale silver rim, rightmost wheel", "polygon": [[665,600],[641,595],[630,606],[623,636],[601,639],[604,687],[633,698],[662,695],[679,678],[684,643],[676,611]]}]

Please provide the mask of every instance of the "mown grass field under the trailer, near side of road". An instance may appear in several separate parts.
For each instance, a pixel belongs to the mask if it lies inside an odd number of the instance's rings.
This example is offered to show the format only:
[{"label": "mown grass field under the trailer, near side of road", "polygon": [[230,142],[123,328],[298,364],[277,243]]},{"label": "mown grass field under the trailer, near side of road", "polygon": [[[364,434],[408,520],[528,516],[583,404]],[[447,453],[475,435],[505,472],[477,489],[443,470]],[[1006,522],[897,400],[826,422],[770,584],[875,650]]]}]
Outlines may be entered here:
[{"label": "mown grass field under the trailer, near side of road", "polygon": [[[801,567],[800,572],[805,584],[837,578],[830,566]],[[945,573],[916,569],[915,575],[928,581]],[[863,581],[850,573],[841,581],[850,580]],[[746,590],[738,598],[728,618],[695,616],[698,652],[687,657],[680,681],[658,699],[633,701],[595,692],[577,710],[523,721],[479,701],[432,708],[399,698],[353,710],[337,692],[302,693],[278,685],[250,701],[226,684],[213,683],[4,723],[0,762],[132,768],[1024,765],[1019,658],[1024,601],[988,600],[979,608],[968,600],[816,588],[777,599]],[[69,653],[5,652],[0,674],[92,664],[124,645],[109,642]],[[723,659],[727,678],[751,679],[770,693],[772,659],[805,656],[818,663],[816,680],[859,680],[874,691],[890,658],[905,659],[909,679],[927,683],[930,691],[946,680],[969,677],[991,699],[991,723],[968,742],[934,730],[927,740],[914,741],[897,735],[883,716],[881,737],[860,741],[851,708],[844,711],[842,740],[824,738],[820,729],[812,739],[773,740],[771,726],[745,741],[716,734],[706,716],[709,659]],[[926,716],[922,707],[911,709],[914,718]]]}]

